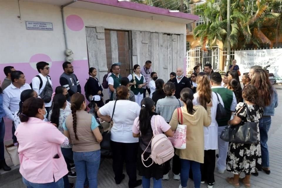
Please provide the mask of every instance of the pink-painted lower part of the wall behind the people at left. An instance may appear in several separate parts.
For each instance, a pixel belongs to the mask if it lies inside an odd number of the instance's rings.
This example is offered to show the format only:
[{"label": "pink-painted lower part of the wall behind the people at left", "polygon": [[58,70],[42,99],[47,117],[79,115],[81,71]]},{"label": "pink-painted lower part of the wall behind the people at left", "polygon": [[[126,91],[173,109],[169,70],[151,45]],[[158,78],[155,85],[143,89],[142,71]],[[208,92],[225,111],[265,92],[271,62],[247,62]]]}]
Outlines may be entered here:
[{"label": "pink-painted lower part of the wall behind the people at left", "polygon": [[[36,62],[47,61],[48,63],[50,63],[51,59],[48,59],[47,58],[48,56],[46,57],[43,55],[42,54],[40,56],[37,55],[37,57],[32,56],[31,62],[36,60]],[[39,60],[38,57],[41,57],[41,59]],[[60,85],[59,78],[61,74],[63,73],[63,67],[62,67],[63,62],[64,61],[51,61],[52,65],[50,68],[49,75],[51,76],[54,91],[55,91],[55,88]],[[31,64],[32,63],[29,63],[29,62],[28,63],[0,64],[0,72],[1,72],[0,80],[4,80],[5,78],[5,75],[3,72],[4,67],[5,66],[14,66],[16,70],[20,70],[24,73],[24,75],[26,76],[26,83],[31,83],[31,79],[38,74],[38,71],[34,70],[31,67]],[[78,80],[80,81],[81,92],[84,94],[84,85],[86,83],[86,79],[89,77],[88,60],[75,60],[73,61],[72,64],[74,66],[74,73],[77,76]],[[12,138],[12,122],[8,118],[6,118],[4,121],[5,121],[5,127],[6,127],[4,140],[10,140]]]}]

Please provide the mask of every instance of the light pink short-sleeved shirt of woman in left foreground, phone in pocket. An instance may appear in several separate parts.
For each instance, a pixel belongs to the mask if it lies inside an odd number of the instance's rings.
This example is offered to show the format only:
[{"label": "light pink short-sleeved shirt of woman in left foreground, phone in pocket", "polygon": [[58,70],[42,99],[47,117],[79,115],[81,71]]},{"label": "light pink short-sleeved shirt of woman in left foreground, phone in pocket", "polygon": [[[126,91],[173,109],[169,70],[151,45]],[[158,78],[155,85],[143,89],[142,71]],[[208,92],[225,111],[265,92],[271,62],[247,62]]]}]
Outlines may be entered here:
[{"label": "light pink short-sleeved shirt of woman in left foreground, phone in pocket", "polygon": [[[20,173],[32,183],[50,183],[68,173],[61,146],[66,137],[50,122],[30,117],[17,127]],[[58,154],[60,158],[53,159]]]}]

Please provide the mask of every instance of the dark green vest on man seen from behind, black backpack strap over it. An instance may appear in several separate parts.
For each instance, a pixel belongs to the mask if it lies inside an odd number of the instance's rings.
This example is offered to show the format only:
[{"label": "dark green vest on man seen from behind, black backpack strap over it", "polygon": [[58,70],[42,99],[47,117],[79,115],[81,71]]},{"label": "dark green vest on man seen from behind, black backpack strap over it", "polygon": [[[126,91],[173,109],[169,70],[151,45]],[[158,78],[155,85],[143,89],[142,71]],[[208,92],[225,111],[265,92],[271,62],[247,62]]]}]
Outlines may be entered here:
[{"label": "dark green vest on man seen from behind, black backpack strap over it", "polygon": [[230,120],[231,117],[230,108],[233,101],[233,91],[226,88],[212,88],[212,91],[218,93],[221,96],[224,108],[227,113],[225,117],[222,117],[220,120],[217,120],[218,126],[226,126],[227,122]]}]

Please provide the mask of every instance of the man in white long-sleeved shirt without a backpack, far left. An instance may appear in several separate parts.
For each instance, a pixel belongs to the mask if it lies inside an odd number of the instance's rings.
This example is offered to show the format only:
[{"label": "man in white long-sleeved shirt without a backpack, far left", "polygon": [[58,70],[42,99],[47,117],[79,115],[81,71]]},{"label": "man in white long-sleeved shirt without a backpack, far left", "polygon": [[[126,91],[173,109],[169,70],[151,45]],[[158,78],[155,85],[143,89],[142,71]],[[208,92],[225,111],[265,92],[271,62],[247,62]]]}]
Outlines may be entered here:
[{"label": "man in white long-sleeved shirt without a backpack, far left", "polygon": [[13,143],[17,142],[15,134],[14,114],[19,109],[19,102],[21,101],[21,92],[31,89],[30,85],[26,83],[24,73],[19,70],[11,72],[12,83],[3,91],[3,108],[7,117],[12,120],[12,134]]}]

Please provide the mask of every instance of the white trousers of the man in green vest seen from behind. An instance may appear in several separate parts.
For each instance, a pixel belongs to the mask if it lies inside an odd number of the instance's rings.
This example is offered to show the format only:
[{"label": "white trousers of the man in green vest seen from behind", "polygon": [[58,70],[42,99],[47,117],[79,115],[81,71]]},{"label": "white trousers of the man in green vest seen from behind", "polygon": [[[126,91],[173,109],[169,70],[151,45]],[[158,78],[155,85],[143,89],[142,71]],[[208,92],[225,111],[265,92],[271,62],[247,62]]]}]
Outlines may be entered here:
[{"label": "white trousers of the man in green vest seen from behind", "polygon": [[224,171],[226,169],[226,157],[228,151],[228,142],[221,140],[220,135],[226,126],[218,127],[218,159],[216,162],[216,166],[220,171]]}]

